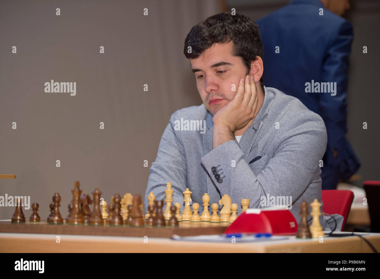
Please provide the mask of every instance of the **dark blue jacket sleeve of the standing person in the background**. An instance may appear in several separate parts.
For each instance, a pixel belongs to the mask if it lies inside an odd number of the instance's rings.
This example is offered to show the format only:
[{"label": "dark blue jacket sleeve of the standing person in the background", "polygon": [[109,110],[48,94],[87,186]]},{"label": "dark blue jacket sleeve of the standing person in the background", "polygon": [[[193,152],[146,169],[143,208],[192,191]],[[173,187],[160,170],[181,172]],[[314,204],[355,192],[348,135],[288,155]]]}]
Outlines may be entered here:
[{"label": "dark blue jacket sleeve of the standing person in the background", "polygon": [[339,166],[344,159],[345,134],[347,132],[347,83],[348,64],[353,30],[345,20],[330,35],[330,45],[323,60],[323,82],[336,82],[334,93],[321,93],[320,115],[325,121],[328,143],[326,162]]}]

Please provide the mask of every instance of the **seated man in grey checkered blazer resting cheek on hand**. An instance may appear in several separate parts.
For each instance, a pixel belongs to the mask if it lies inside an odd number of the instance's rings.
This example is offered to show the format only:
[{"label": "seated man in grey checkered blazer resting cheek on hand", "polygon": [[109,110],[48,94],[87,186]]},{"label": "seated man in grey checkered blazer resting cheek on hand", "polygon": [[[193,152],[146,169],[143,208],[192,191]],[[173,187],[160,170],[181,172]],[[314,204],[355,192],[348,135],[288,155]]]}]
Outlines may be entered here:
[{"label": "seated man in grey checkered blazer resting cheek on hand", "polygon": [[[321,117],[264,86],[260,33],[247,16],[220,13],[195,25],[184,54],[203,104],[171,116],[150,167],[146,208],[149,193],[163,200],[171,182],[182,210],[189,188],[200,205],[204,193],[210,205],[228,194],[238,205],[250,199],[250,208],[285,205],[299,222],[302,200],[321,202],[319,162],[327,142]],[[343,218],[335,218],[340,230]],[[330,221],[320,216],[323,229],[333,229]]]}]

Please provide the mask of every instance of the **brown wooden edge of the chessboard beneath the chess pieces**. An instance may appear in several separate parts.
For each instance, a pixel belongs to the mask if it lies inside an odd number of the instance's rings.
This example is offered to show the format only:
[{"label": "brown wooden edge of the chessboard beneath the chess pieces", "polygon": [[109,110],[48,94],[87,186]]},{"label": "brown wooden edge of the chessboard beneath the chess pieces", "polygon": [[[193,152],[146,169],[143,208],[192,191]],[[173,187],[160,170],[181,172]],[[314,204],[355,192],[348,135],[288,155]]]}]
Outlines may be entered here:
[{"label": "brown wooden edge of the chessboard beneath the chess pieces", "polygon": [[194,235],[214,235],[224,233],[230,225],[228,222],[212,223],[207,221],[191,222],[182,221],[178,226],[153,227],[143,225],[140,227],[130,227],[129,225],[112,226],[104,225],[70,225],[49,224],[46,221],[24,223],[12,223],[11,221],[0,221],[0,233],[38,233],[54,235],[98,235],[98,236],[136,236],[136,237],[165,237],[171,238],[173,235],[194,236]]}]

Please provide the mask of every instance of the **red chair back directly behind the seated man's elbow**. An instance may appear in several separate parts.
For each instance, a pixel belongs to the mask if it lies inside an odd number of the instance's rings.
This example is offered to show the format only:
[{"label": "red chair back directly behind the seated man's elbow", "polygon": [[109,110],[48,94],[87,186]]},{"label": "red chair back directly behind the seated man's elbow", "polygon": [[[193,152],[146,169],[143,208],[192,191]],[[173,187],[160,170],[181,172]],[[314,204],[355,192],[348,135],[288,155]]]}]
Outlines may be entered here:
[{"label": "red chair back directly behind the seated man's elbow", "polygon": [[350,190],[322,190],[323,212],[343,216],[341,231],[346,224],[353,199],[354,193]]}]

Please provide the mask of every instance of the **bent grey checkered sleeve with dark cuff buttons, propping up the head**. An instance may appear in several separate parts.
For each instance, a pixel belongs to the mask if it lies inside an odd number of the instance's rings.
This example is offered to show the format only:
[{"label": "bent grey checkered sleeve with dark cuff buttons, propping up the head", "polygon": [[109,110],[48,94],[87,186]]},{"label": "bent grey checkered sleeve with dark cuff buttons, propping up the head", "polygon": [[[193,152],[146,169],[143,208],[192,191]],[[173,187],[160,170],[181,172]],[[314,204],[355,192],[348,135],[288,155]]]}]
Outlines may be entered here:
[{"label": "bent grey checkered sleeve with dark cuff buttons, propping up the head", "polygon": [[[326,128],[321,117],[310,111],[288,121],[293,121],[293,128],[281,132],[282,138],[276,139],[281,141],[277,151],[258,175],[250,169],[236,140],[222,143],[202,157],[203,166],[222,195],[228,194],[232,200],[250,199],[250,208],[261,208],[261,197],[266,194],[292,196],[293,201],[301,196],[315,178],[326,151]],[[212,167],[219,165],[225,175],[222,183],[212,173]]]}]

